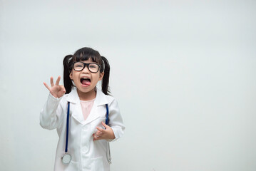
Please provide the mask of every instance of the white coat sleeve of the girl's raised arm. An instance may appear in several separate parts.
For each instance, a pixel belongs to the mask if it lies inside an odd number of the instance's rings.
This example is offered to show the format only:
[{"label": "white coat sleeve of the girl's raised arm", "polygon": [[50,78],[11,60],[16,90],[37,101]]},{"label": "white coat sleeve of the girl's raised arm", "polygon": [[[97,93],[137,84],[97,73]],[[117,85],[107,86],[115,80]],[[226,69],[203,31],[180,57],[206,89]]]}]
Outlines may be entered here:
[{"label": "white coat sleeve of the girl's raised arm", "polygon": [[61,98],[55,98],[51,93],[40,113],[40,125],[47,130],[58,128],[61,118]]}]

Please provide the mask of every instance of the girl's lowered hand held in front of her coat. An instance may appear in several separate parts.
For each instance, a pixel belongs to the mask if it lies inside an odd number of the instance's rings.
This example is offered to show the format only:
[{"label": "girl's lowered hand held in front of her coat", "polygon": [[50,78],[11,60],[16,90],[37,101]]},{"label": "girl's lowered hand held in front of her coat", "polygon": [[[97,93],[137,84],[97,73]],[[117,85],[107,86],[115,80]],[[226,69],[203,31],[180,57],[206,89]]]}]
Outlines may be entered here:
[{"label": "girl's lowered hand held in front of her coat", "polygon": [[93,134],[93,141],[94,140],[113,140],[113,139],[115,139],[116,137],[113,133],[112,128],[103,122],[102,122],[102,125],[103,125],[103,127],[106,128],[106,130],[96,127],[97,132]]}]

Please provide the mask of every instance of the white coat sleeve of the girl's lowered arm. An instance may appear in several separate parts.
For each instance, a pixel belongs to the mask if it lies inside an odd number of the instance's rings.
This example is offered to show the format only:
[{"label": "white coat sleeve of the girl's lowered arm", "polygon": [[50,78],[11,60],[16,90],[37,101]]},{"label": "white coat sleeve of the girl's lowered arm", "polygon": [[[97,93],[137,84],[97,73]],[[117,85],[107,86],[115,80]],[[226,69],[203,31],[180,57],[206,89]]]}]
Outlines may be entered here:
[{"label": "white coat sleeve of the girl's lowered arm", "polygon": [[[116,100],[113,100],[113,102],[109,106],[109,126],[112,128],[113,133],[115,135],[115,139],[112,141],[117,140],[118,138],[121,138],[123,136],[123,131],[125,130],[125,126],[123,125],[123,118],[121,117],[120,110],[118,108],[118,103]],[[108,140],[111,141],[111,140]]]}]

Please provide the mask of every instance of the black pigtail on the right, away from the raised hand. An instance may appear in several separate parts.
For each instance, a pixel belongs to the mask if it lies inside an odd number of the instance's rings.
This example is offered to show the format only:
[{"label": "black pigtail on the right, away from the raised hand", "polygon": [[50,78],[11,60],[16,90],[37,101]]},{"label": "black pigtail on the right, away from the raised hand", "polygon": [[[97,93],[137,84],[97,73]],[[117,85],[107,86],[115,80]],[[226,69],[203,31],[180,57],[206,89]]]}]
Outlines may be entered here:
[{"label": "black pigtail on the right, away from the raised hand", "polygon": [[101,81],[101,90],[104,94],[108,95],[109,93],[111,93],[108,90],[108,82],[109,82],[109,75],[110,75],[111,68],[109,66],[108,60],[104,56],[101,56],[101,58],[103,60],[103,69],[102,70],[104,71],[104,76]]}]

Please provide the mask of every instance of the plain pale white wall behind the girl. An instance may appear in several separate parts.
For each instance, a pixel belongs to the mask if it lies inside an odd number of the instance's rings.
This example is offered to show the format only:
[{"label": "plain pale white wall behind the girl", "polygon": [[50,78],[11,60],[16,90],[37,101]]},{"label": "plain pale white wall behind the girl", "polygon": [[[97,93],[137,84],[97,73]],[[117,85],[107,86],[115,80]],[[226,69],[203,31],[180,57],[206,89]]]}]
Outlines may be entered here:
[{"label": "plain pale white wall behind the girl", "polygon": [[126,124],[112,171],[256,169],[256,1],[0,2],[0,170],[53,170],[43,81],[84,46]]}]

